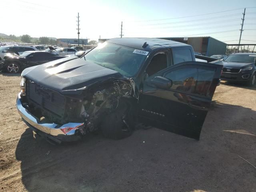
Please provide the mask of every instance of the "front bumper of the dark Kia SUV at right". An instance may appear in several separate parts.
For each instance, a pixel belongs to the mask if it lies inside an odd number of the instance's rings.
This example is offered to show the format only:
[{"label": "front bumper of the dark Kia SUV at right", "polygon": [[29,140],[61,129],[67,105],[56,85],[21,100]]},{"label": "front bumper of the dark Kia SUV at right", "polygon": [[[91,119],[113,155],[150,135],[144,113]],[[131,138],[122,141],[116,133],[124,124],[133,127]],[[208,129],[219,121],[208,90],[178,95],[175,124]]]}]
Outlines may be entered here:
[{"label": "front bumper of the dark Kia SUV at right", "polygon": [[248,82],[250,80],[251,75],[251,71],[241,71],[239,73],[222,72],[220,78],[224,81]]}]

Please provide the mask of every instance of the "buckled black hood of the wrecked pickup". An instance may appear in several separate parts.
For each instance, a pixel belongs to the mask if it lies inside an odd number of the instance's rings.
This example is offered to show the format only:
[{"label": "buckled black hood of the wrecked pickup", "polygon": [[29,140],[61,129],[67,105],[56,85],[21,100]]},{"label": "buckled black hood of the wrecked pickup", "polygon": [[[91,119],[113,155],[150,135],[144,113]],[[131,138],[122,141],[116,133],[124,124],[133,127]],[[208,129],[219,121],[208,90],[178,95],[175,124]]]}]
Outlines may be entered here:
[{"label": "buckled black hood of the wrecked pickup", "polygon": [[123,77],[114,70],[77,57],[26,68],[22,76],[62,94],[80,94],[95,82]]}]

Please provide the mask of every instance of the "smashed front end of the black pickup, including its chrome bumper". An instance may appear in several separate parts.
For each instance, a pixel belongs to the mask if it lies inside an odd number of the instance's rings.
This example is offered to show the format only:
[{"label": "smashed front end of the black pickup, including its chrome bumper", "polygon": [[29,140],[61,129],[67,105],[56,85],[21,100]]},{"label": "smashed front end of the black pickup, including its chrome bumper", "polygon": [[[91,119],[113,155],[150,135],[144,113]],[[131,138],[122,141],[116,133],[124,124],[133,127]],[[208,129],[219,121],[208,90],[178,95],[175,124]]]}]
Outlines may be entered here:
[{"label": "smashed front end of the black pickup, including its chrome bumper", "polygon": [[[81,92],[82,90],[82,92]],[[28,126],[54,143],[79,140],[89,132],[104,129],[113,116],[126,134],[132,129],[130,112],[135,98],[135,84],[131,79],[109,78],[61,94],[46,86],[22,77],[17,98],[18,112]],[[64,91],[65,92],[65,91]],[[120,123],[116,124],[120,128]],[[112,130],[113,132],[113,130]],[[106,133],[105,135],[108,135]],[[122,138],[114,130],[112,138]]]}]

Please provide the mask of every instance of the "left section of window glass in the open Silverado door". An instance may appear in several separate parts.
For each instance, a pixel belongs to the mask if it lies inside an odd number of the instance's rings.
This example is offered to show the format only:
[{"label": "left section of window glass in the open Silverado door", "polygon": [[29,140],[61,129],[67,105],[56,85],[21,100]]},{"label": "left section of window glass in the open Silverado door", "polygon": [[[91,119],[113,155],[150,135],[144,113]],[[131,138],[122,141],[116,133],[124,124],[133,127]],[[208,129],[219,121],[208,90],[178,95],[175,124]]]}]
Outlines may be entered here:
[{"label": "left section of window glass in the open Silverado door", "polygon": [[171,89],[194,93],[198,71],[196,68],[182,68],[169,72],[165,77],[172,80]]}]

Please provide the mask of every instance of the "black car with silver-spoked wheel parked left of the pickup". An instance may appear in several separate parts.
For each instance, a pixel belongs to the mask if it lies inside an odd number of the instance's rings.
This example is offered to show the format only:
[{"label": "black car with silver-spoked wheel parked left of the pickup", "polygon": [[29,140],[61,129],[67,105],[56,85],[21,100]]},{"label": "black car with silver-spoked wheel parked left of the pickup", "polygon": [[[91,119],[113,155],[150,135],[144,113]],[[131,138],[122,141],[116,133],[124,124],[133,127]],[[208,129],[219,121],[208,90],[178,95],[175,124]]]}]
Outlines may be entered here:
[{"label": "black car with silver-spoked wheel parked left of the pickup", "polygon": [[64,56],[56,56],[56,54],[41,51],[26,51],[20,56],[8,53],[4,60],[0,61],[0,70],[9,73],[19,73],[27,67],[40,65],[49,61],[64,58]]}]

